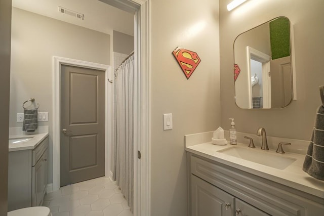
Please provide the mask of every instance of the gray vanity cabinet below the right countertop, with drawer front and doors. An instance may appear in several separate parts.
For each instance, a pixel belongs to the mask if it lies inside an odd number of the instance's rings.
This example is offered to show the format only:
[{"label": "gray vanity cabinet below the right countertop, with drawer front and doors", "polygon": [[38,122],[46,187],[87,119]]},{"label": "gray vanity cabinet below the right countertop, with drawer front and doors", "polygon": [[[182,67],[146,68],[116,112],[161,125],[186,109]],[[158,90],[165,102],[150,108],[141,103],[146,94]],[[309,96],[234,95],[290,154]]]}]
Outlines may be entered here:
[{"label": "gray vanity cabinet below the right countertop, with drawer front and doors", "polygon": [[188,215],[322,216],[324,199],[187,153]]}]

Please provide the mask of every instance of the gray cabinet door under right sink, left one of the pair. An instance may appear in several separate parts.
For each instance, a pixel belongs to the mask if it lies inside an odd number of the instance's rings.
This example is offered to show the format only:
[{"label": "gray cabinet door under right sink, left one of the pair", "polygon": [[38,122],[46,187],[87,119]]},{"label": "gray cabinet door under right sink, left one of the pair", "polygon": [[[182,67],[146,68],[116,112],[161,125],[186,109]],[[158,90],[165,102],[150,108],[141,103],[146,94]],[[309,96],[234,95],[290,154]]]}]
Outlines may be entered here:
[{"label": "gray cabinet door under right sink, left one of the pair", "polygon": [[234,201],[232,195],[191,175],[192,216],[233,216]]}]

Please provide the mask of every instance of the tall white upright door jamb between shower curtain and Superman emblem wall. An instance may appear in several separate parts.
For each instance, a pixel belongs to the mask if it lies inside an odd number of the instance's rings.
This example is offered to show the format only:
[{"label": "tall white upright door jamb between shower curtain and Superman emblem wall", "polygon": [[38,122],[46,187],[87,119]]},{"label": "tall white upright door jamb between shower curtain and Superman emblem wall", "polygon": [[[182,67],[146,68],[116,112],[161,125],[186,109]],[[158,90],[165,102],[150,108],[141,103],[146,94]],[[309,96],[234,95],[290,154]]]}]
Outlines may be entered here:
[{"label": "tall white upright door jamb between shower curtain and Superman emblem wall", "polygon": [[[128,0],[126,4],[131,5]],[[134,97],[134,216],[151,215],[150,143],[150,0],[130,0],[135,13],[135,97]],[[141,159],[137,158],[138,151]]]}]

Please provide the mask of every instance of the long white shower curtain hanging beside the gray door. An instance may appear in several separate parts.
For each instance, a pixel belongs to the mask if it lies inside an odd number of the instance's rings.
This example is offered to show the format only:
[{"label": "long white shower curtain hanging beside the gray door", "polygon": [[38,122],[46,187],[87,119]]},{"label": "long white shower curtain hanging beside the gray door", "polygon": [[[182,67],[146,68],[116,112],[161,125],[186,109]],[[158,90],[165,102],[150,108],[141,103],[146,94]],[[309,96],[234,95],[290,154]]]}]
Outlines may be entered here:
[{"label": "long white shower curtain hanging beside the gray door", "polygon": [[133,211],[134,191],[134,55],[116,71],[115,177]]}]

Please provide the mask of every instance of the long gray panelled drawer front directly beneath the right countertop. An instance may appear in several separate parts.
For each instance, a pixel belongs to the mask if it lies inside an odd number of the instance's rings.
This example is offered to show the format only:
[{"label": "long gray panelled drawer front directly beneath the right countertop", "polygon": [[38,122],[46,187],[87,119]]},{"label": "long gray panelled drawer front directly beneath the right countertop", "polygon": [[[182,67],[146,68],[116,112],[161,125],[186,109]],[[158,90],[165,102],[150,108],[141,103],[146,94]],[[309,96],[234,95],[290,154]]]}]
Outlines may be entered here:
[{"label": "long gray panelled drawer front directly beneath the right countertop", "polygon": [[190,172],[270,215],[321,215],[324,212],[324,199],[192,154]]}]

